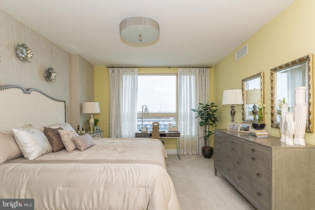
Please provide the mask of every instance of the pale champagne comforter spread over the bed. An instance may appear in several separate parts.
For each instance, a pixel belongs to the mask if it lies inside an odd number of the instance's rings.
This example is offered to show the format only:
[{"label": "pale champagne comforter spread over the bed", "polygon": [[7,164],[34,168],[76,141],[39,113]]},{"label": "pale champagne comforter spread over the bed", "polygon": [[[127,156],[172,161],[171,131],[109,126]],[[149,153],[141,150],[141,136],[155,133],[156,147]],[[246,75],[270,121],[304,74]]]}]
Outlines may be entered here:
[{"label": "pale champagne comforter spread over the bed", "polygon": [[0,165],[0,198],[33,198],[37,210],[180,210],[159,140],[95,139]]}]

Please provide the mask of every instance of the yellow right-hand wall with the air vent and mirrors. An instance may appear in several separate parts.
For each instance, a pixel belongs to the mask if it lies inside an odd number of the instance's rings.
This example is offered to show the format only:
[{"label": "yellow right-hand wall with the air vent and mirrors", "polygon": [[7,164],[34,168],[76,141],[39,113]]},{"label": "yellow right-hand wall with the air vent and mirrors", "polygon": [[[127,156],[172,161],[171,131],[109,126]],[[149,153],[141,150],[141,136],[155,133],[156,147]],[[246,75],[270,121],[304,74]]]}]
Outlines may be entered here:
[{"label": "yellow right-hand wall with the air vent and mirrors", "polygon": [[[222,92],[241,89],[241,80],[258,72],[264,74],[266,129],[280,137],[278,128],[271,128],[270,69],[315,52],[315,1],[296,0],[261,30],[242,43],[214,67],[215,102],[219,105],[218,128],[227,128],[231,120],[230,106],[222,104]],[[235,61],[235,53],[248,43],[248,54]],[[314,80],[313,80],[314,81]],[[314,90],[313,90],[314,91]],[[242,120],[242,106],[236,105],[235,122]],[[313,122],[314,123],[314,122]],[[315,145],[315,133],[306,133],[305,141]]]}]

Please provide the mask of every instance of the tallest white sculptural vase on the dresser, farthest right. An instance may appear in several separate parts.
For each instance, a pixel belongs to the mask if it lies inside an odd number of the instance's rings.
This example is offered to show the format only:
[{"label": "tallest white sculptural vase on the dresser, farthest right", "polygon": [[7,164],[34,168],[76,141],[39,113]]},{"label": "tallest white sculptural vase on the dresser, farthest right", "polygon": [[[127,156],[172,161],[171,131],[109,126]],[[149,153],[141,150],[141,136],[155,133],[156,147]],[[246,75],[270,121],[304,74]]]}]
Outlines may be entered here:
[{"label": "tallest white sculptural vase on the dresser, farthest right", "polygon": [[295,103],[293,105],[295,131],[294,144],[305,145],[304,135],[307,120],[307,105],[305,102],[305,87],[295,88]]}]

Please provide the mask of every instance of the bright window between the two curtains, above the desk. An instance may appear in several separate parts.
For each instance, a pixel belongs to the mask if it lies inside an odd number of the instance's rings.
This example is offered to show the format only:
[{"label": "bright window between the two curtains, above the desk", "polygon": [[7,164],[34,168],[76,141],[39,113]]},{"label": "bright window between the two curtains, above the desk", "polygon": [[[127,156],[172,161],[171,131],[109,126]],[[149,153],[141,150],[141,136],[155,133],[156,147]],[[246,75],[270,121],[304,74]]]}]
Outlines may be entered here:
[{"label": "bright window between the two curtains, above the desk", "polygon": [[[143,115],[143,127],[152,130],[158,122],[160,130],[168,124],[176,125],[177,119],[177,75],[138,75],[137,129],[141,129],[142,106],[149,114]],[[145,108],[145,107],[144,107]]]}]

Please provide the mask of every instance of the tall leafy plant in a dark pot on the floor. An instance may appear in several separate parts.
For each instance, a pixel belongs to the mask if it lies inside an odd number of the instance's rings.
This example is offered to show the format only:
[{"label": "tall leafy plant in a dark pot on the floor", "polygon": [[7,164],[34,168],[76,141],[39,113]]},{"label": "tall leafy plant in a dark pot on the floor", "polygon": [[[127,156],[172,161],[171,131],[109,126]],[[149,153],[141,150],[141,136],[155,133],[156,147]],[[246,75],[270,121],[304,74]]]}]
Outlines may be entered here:
[{"label": "tall leafy plant in a dark pot on the floor", "polygon": [[[199,118],[199,125],[203,127],[203,134],[205,146],[202,147],[202,154],[205,158],[211,158],[213,154],[213,147],[211,147],[212,142],[212,134],[214,134],[213,129],[217,125],[216,123],[219,121],[218,117],[216,117],[216,105],[214,102],[202,104],[199,103],[198,109],[191,109],[191,111],[196,112],[196,118]],[[209,141],[210,137],[210,141]]]}]

